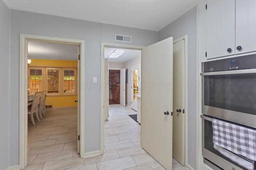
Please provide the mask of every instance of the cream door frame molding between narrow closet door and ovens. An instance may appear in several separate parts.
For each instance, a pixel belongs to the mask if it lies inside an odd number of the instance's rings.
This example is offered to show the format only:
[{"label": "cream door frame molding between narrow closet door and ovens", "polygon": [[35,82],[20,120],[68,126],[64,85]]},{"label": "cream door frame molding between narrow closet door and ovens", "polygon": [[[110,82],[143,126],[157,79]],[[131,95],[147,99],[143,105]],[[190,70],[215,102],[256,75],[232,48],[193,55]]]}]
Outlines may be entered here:
[{"label": "cream door frame molding between narrow closet door and ovens", "polygon": [[187,137],[187,127],[188,127],[188,90],[187,90],[187,87],[188,87],[188,77],[187,77],[187,71],[188,71],[188,35],[184,35],[183,37],[180,37],[178,39],[175,39],[173,41],[173,43],[177,43],[181,40],[184,40],[184,110],[185,110],[185,115],[184,115],[184,166],[186,168],[189,168],[188,167],[188,158],[187,158],[187,148],[188,148],[188,137]]}]

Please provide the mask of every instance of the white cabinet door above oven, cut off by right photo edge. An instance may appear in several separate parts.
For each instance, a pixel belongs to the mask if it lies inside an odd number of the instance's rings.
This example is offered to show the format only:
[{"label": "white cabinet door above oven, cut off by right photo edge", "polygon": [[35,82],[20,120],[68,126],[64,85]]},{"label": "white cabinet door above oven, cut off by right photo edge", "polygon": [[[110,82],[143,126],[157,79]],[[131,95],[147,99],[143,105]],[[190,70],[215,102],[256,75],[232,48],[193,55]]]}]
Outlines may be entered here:
[{"label": "white cabinet door above oven, cut off by right photo edge", "polygon": [[236,54],[256,51],[256,0],[236,0]]}]

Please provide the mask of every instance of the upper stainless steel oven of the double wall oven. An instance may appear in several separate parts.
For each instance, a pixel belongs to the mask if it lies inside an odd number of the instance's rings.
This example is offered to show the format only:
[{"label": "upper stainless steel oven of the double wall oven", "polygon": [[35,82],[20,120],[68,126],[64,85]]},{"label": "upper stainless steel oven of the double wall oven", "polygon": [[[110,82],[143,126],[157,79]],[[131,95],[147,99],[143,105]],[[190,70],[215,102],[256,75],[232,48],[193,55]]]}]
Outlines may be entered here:
[{"label": "upper stainless steel oven of the double wall oven", "polygon": [[202,114],[256,128],[256,55],[202,63]]}]

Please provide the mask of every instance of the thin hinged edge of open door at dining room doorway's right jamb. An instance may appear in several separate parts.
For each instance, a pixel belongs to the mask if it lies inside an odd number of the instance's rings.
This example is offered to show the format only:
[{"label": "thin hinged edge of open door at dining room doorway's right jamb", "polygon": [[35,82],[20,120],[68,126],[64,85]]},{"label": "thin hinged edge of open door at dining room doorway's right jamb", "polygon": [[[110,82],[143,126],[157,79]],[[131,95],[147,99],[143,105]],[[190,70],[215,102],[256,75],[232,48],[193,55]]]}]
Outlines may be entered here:
[{"label": "thin hinged edge of open door at dining room doorway's right jamb", "polygon": [[[77,153],[80,153],[80,46],[78,45],[77,60]],[[80,155],[81,157],[81,155]]]}]

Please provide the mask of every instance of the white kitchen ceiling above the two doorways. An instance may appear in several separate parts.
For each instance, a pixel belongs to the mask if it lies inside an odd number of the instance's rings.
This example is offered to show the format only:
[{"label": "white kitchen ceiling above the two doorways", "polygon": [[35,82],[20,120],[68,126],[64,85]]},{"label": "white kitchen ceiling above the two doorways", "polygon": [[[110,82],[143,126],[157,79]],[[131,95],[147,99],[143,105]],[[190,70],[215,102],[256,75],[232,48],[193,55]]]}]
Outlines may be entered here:
[{"label": "white kitchen ceiling above the two doorways", "polygon": [[202,0],[2,0],[9,8],[159,31]]}]

